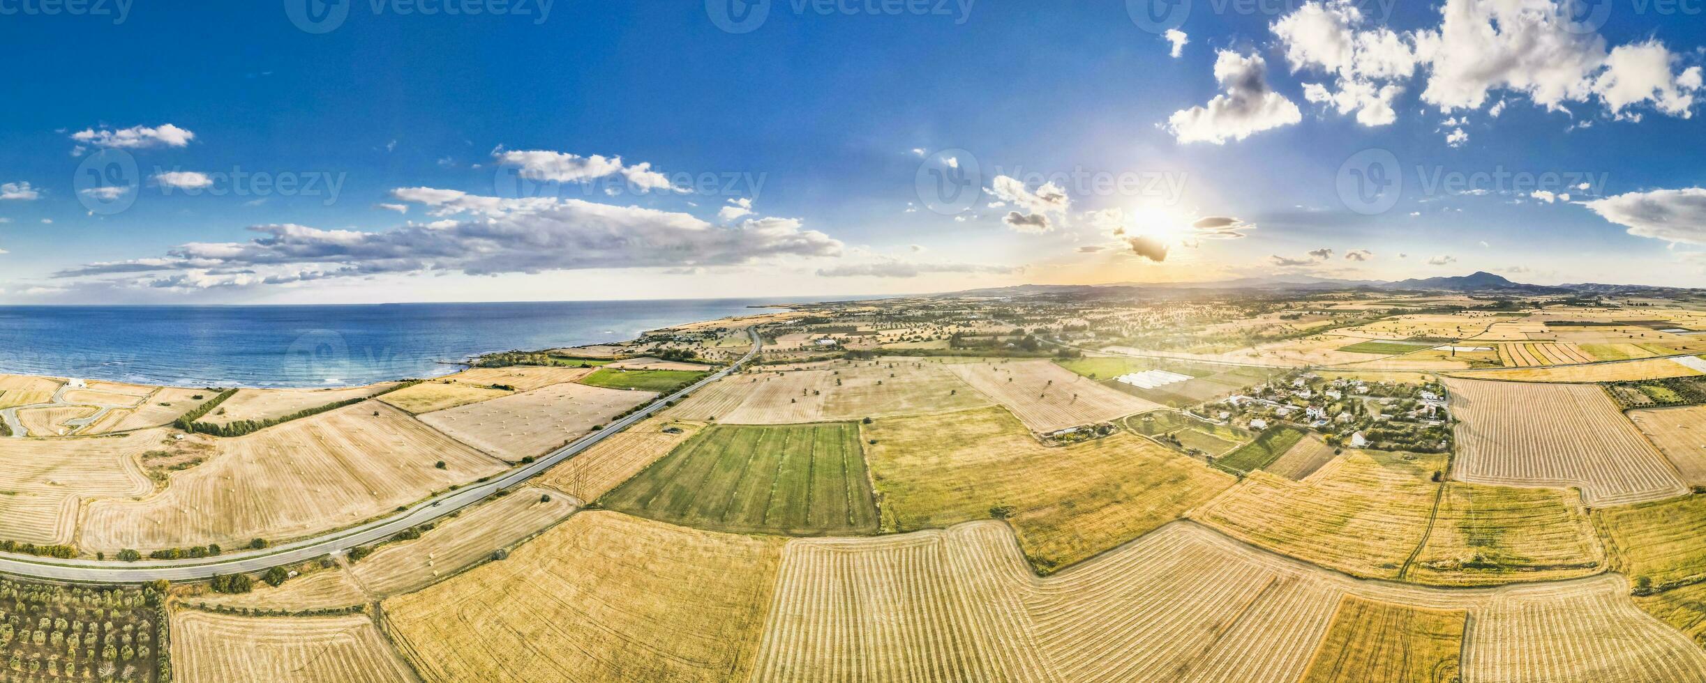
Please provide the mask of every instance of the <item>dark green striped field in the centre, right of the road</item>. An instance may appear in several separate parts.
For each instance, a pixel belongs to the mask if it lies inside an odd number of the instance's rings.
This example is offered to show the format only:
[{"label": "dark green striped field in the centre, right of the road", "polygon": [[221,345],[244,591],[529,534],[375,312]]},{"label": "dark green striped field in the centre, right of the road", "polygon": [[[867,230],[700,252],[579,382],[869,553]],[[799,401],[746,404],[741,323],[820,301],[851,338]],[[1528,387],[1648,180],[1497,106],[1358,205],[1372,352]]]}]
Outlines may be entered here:
[{"label": "dark green striped field in the centre, right of the road", "polygon": [[877,533],[851,422],[711,426],[599,504],[713,531]]}]

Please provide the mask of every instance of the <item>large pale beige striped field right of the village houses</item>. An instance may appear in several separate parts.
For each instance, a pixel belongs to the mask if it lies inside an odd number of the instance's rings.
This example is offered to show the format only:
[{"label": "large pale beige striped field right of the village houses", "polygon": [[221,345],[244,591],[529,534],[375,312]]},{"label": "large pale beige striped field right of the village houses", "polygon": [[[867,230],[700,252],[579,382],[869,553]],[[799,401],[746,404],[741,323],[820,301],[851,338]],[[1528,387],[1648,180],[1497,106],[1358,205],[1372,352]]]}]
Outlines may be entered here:
[{"label": "large pale beige striped field right of the village houses", "polygon": [[1580,487],[1588,506],[1682,496],[1677,470],[1592,385],[1445,380],[1457,433],[1455,479]]}]

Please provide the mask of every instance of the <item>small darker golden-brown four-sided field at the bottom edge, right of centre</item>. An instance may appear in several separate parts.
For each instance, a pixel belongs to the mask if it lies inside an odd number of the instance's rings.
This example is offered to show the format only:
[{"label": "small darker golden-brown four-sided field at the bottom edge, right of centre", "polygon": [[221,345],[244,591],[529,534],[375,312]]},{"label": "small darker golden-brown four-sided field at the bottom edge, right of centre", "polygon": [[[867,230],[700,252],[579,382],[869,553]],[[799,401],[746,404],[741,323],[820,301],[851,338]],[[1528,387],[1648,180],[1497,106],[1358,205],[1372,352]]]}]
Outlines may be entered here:
[{"label": "small darker golden-brown four-sided field at the bottom edge, right of centre", "polygon": [[1467,620],[1465,610],[1423,610],[1348,594],[1302,681],[1454,680]]}]

